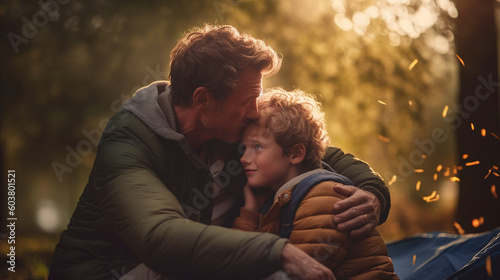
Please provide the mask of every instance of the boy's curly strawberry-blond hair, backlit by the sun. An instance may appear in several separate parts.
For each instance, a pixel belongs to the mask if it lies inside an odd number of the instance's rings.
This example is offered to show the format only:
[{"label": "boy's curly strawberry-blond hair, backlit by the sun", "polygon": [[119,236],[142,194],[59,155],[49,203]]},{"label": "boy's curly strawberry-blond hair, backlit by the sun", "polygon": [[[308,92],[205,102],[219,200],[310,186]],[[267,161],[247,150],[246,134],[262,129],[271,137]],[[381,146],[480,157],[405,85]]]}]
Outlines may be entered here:
[{"label": "boy's curly strawberry-blond hair, backlit by the sun", "polygon": [[289,155],[296,144],[302,143],[306,148],[303,167],[320,168],[330,144],[321,104],[301,90],[274,88],[259,97],[258,105],[260,118],[256,124],[270,130],[283,153]]}]

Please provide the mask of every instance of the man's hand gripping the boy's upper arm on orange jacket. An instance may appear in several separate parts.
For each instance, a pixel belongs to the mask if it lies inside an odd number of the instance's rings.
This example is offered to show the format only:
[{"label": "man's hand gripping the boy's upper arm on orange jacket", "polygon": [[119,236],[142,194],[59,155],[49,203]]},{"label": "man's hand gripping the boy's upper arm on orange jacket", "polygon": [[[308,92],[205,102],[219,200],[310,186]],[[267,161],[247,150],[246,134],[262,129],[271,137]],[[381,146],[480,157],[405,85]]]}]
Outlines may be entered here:
[{"label": "man's hand gripping the boy's upper arm on orange jacket", "polygon": [[352,237],[365,237],[375,229],[380,219],[380,201],[371,192],[354,186],[336,185],[335,191],[347,196],[333,207],[333,222],[339,231],[349,231]]}]

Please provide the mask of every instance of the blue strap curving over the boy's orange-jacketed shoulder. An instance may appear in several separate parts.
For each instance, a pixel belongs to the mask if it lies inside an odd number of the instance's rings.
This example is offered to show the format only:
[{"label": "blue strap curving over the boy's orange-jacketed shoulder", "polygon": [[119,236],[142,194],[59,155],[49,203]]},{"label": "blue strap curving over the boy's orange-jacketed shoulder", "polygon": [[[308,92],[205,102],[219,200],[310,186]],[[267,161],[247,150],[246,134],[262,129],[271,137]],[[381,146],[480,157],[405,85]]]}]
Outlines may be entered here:
[{"label": "blue strap curving over the boy's orange-jacketed shoulder", "polygon": [[323,181],[333,181],[344,185],[352,185],[351,180],[347,177],[327,170],[313,173],[304,180],[300,181],[300,183],[298,183],[292,191],[292,199],[283,205],[283,208],[281,209],[280,237],[290,238],[290,234],[292,234],[293,230],[293,221],[295,220],[295,212],[297,212],[297,208],[302,202],[302,199],[304,199],[312,187]]}]

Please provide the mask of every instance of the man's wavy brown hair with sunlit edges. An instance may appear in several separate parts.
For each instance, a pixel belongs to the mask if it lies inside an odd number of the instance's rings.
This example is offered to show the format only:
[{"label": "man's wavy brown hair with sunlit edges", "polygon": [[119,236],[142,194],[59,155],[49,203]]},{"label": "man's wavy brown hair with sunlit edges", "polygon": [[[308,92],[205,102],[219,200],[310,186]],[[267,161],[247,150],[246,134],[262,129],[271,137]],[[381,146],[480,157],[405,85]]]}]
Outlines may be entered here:
[{"label": "man's wavy brown hair with sunlit edges", "polygon": [[272,75],[280,67],[281,57],[270,46],[232,26],[194,28],[170,53],[173,103],[190,106],[198,87],[206,87],[216,100],[223,100],[236,89],[243,70]]}]

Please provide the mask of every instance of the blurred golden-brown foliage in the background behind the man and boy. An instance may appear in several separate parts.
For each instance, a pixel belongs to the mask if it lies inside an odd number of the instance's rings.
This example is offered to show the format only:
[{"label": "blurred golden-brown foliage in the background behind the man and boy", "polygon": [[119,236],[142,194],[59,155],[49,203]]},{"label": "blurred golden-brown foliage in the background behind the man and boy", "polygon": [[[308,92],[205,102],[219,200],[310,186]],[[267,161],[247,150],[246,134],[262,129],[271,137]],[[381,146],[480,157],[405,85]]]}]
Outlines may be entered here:
[{"label": "blurred golden-brown foliage in the background behind the man and boy", "polygon": [[[40,3],[49,2],[61,4],[44,20]],[[399,169],[418,149],[415,141],[436,128],[449,140],[413,167],[454,165],[454,133],[441,112],[457,91],[455,16],[447,0],[5,0],[0,160],[18,174],[18,234],[57,238],[86,183],[93,141],[107,118],[138,88],[165,79],[176,40],[206,22],[234,25],[273,46],[283,66],[264,85],[318,96],[333,144],[368,161],[387,182],[397,176],[391,215],[380,227],[386,240],[450,230],[457,186],[443,176],[434,180],[434,171],[401,176]],[[14,33],[24,41],[9,40]],[[59,178],[55,162],[67,167]],[[436,189],[440,201],[422,200]],[[55,202],[43,208],[53,215],[48,220],[37,216],[47,202]],[[37,226],[50,222],[49,233]],[[37,267],[39,261],[27,262]]]}]

